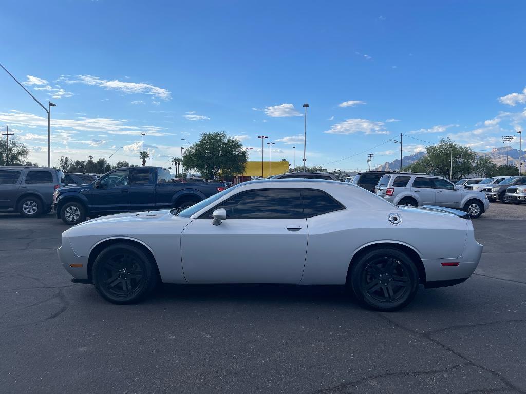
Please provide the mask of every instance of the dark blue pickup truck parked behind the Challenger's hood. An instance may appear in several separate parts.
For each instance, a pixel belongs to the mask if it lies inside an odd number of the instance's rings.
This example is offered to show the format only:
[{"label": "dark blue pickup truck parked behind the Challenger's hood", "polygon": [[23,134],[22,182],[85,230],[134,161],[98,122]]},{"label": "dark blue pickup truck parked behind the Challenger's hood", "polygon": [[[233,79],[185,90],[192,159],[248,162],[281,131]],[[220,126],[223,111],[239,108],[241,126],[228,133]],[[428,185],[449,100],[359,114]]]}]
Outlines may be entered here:
[{"label": "dark blue pickup truck parked behind the Challenger's hood", "polygon": [[52,211],[64,223],[77,224],[86,216],[186,208],[222,190],[224,182],[172,182],[165,168],[118,168],[95,182],[57,189]]}]

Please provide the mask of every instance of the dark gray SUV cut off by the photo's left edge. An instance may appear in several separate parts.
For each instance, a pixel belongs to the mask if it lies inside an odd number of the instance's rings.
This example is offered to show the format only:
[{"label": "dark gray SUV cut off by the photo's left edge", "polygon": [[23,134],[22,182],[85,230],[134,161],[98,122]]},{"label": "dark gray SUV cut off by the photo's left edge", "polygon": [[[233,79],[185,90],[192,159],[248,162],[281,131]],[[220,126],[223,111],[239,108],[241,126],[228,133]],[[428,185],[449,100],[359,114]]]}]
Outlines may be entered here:
[{"label": "dark gray SUV cut off by the photo's left edge", "polygon": [[66,184],[55,168],[0,167],[0,212],[36,217],[51,210],[53,193]]}]

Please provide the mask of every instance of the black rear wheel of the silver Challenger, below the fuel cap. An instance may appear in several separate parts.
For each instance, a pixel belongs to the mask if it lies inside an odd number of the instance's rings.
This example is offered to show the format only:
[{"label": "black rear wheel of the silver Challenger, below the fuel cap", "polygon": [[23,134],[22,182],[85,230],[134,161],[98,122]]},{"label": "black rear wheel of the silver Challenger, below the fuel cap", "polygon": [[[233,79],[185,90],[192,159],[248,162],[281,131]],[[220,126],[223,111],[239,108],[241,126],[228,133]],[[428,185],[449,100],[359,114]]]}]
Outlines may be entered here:
[{"label": "black rear wheel of the silver Challenger, below the fuel cap", "polygon": [[363,254],[350,275],[347,282],[359,302],[380,312],[402,309],[418,292],[416,264],[394,248],[378,248]]}]

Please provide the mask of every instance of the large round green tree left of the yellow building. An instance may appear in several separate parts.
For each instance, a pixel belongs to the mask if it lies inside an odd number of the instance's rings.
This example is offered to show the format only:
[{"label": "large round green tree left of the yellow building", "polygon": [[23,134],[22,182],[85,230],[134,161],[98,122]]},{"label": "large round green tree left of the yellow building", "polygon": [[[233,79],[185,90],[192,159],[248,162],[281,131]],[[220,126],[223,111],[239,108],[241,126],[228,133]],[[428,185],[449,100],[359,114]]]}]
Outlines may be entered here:
[{"label": "large round green tree left of the yellow building", "polygon": [[181,164],[214,179],[219,171],[226,176],[242,174],[246,162],[247,153],[238,139],[228,137],[224,131],[214,131],[201,134],[200,140],[186,149]]}]

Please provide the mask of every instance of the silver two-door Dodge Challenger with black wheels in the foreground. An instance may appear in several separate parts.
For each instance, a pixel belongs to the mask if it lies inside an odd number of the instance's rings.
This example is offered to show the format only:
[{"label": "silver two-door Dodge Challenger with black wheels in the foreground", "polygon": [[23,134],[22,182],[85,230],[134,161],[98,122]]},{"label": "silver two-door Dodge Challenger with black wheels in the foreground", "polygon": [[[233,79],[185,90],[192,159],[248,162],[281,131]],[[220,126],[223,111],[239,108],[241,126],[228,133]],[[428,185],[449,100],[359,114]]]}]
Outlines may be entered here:
[{"label": "silver two-door Dodge Challenger with black wheels in the foreground", "polygon": [[369,308],[466,281],[482,245],[466,213],[408,207],[337,181],[238,184],[190,208],[99,217],[62,234],[73,282],[115,304],[162,283],[347,286]]}]

